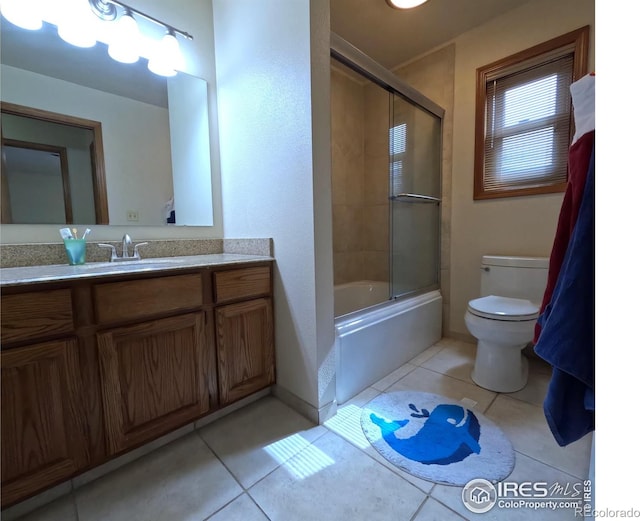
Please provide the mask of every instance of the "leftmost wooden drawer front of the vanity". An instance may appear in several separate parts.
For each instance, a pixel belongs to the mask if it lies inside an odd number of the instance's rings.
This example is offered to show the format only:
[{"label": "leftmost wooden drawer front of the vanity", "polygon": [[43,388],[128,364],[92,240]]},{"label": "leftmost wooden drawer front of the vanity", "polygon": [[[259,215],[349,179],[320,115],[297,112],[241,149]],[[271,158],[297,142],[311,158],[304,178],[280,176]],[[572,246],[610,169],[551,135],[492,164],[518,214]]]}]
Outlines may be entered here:
[{"label": "leftmost wooden drawer front of the vanity", "polygon": [[71,290],[2,296],[2,343],[73,331]]}]

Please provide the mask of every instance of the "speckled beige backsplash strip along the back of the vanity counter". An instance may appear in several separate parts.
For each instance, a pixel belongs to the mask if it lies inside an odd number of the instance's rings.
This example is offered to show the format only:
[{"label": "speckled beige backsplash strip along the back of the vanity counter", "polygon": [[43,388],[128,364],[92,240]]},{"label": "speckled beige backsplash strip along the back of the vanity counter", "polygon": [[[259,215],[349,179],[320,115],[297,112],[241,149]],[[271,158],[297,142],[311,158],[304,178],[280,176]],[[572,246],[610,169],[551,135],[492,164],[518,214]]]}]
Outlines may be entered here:
[{"label": "speckled beige backsplash strip along the back of the vanity counter", "polygon": [[[184,255],[210,255],[215,253],[237,253],[246,255],[265,255],[272,257],[271,239],[175,239],[175,240],[136,240],[133,243],[148,242],[140,248],[144,259],[159,257],[178,257]],[[122,241],[99,241],[113,244],[122,253]],[[106,262],[110,250],[100,248],[98,241],[87,242],[87,262]],[[0,267],[46,266],[66,264],[67,257],[62,241],[44,244],[3,244],[0,246]]]}]

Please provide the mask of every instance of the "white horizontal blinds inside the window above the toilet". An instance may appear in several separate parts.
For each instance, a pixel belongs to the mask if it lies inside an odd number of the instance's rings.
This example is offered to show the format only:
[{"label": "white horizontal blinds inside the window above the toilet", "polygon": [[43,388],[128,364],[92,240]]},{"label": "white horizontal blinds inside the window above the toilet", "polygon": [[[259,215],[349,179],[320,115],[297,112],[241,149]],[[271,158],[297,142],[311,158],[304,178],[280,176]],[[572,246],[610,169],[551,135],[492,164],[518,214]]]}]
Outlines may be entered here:
[{"label": "white horizontal blinds inside the window above the toilet", "polygon": [[487,77],[485,191],[566,181],[573,53],[537,61]]}]

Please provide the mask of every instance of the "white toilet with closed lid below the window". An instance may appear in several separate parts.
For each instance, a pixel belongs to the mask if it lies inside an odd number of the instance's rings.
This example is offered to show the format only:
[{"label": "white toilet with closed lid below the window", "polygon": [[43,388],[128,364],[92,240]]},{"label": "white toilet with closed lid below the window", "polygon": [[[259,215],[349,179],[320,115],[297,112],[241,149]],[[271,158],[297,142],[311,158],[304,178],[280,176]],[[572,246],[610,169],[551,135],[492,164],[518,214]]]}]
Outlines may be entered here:
[{"label": "white toilet with closed lid below the window", "polygon": [[543,257],[482,257],[481,297],[469,301],[464,316],[478,339],[471,378],[480,387],[510,393],[526,385],[522,349],[533,340],[548,270]]}]

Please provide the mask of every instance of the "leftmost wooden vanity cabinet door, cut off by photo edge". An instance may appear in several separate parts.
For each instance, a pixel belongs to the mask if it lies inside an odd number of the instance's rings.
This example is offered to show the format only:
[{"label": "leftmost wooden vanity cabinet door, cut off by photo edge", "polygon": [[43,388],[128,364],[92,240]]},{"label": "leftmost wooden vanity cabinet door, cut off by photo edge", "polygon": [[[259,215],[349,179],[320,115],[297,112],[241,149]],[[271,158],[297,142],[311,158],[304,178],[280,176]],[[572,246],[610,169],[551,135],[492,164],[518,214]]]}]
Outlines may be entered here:
[{"label": "leftmost wooden vanity cabinet door, cut off by photo edge", "polygon": [[0,352],[2,506],[89,462],[75,339]]}]

